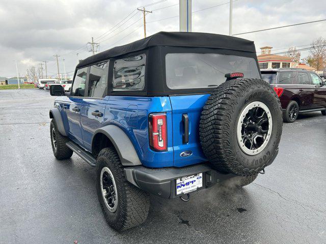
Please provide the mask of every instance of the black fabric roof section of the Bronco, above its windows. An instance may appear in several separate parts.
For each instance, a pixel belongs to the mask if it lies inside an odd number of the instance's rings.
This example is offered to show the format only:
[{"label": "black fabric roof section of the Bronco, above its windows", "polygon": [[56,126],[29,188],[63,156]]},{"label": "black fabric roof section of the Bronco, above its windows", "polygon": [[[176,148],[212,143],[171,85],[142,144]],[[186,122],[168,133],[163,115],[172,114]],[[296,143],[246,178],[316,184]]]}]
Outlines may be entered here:
[{"label": "black fabric roof section of the Bronco, above its windows", "polygon": [[147,38],[114,47],[85,58],[79,62],[76,68],[154,46],[219,48],[256,53],[254,42],[242,38],[209,33],[158,32]]}]

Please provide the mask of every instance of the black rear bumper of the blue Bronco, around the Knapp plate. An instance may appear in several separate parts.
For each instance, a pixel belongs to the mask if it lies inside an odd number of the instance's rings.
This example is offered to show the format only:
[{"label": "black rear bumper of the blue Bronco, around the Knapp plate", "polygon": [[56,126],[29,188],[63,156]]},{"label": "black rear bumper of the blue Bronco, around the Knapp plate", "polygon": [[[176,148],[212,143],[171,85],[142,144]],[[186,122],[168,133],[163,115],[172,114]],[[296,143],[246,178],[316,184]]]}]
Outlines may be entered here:
[{"label": "black rear bumper of the blue Bronco, around the Knapp plate", "polygon": [[197,191],[237,176],[235,174],[223,174],[218,172],[212,169],[208,164],[160,169],[132,166],[124,168],[124,173],[126,179],[132,185],[162,198],[175,198],[182,195],[176,195],[176,179],[183,176],[203,173],[203,186],[198,188]]}]

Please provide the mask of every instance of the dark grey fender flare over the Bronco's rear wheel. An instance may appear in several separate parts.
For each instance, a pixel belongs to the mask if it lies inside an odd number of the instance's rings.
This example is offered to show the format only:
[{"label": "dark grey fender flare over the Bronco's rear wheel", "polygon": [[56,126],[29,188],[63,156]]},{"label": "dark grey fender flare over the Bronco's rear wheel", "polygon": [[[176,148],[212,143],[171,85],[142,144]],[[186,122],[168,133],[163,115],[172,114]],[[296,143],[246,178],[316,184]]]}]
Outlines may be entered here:
[{"label": "dark grey fender flare over the Bronco's rear wheel", "polygon": [[118,126],[107,125],[97,129],[92,136],[92,146],[94,137],[98,133],[102,133],[108,139],[110,139],[110,141],[117,150],[117,153],[121,160],[121,164],[123,166],[142,165],[129,137]]}]

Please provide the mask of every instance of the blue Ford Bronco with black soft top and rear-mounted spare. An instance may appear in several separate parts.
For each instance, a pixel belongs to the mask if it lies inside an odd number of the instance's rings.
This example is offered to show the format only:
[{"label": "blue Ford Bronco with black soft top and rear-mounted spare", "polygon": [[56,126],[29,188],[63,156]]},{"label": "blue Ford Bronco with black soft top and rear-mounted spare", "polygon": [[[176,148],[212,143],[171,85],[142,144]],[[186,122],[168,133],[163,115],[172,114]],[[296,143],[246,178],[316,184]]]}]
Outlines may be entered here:
[{"label": "blue Ford Bronco with black soft top and rear-mounted spare", "polygon": [[49,112],[57,159],[95,167],[108,224],[148,215],[149,194],[189,199],[215,184],[250,184],[278,154],[282,109],[261,79],[252,41],[160,32],[81,60]]}]

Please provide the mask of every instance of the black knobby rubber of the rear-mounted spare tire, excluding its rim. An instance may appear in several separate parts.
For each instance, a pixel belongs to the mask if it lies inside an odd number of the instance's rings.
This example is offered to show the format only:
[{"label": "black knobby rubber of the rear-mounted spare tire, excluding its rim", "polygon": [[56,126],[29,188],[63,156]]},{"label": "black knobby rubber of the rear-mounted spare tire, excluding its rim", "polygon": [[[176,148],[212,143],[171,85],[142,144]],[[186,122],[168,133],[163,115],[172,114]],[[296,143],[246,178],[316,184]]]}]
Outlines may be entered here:
[{"label": "black knobby rubber of the rear-mounted spare tire, excluding its rim", "polygon": [[[271,114],[273,128],[266,146],[256,155],[247,155],[237,141],[237,121],[248,104],[264,103]],[[204,105],[199,136],[203,152],[212,167],[240,176],[258,174],[270,165],[282,134],[282,108],[270,85],[261,79],[232,79],[222,83]]]}]

